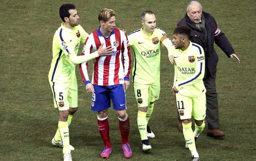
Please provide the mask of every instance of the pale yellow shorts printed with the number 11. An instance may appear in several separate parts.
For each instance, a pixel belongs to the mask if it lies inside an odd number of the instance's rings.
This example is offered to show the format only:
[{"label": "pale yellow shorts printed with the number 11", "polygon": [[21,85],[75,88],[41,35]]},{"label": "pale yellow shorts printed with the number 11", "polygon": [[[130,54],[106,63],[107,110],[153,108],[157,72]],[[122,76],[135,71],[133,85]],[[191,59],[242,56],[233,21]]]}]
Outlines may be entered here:
[{"label": "pale yellow shorts printed with the number 11", "polygon": [[176,93],[177,108],[180,119],[204,120],[206,117],[206,95],[203,93],[198,97],[187,97]]}]

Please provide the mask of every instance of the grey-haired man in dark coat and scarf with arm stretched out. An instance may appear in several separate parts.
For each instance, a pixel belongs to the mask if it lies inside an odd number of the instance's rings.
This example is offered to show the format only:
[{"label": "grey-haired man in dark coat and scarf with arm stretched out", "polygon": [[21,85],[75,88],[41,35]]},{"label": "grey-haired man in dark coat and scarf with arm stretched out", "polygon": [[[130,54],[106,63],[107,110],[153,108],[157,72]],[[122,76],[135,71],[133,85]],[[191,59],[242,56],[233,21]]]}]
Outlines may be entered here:
[{"label": "grey-haired man in dark coat and scarf with arm stretched out", "polygon": [[[206,120],[208,123],[207,135],[210,137],[222,137],[225,134],[220,131],[219,105],[216,91],[216,72],[218,55],[214,50],[214,42],[229,58],[236,58],[232,45],[224,33],[217,27],[213,16],[202,11],[202,6],[198,1],[191,1],[187,5],[187,11],[184,18],[178,22],[177,26],[186,25],[191,28],[191,42],[201,45],[205,53],[205,74],[204,86],[206,92]],[[183,127],[180,117],[178,119],[178,129],[182,132]]]}]

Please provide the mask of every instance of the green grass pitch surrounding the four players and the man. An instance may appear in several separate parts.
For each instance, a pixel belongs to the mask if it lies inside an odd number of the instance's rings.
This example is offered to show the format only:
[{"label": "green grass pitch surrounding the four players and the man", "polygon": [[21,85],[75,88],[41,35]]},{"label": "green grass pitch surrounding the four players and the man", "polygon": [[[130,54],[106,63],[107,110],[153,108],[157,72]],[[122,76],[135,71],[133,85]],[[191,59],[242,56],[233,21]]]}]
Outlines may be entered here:
[{"label": "green grass pitch surrounding the four players and the man", "polygon": [[[157,27],[172,38],[177,22],[184,17],[189,1],[174,0],[112,0],[112,1],[52,1],[2,0],[0,43],[0,160],[1,161],[61,161],[62,149],[51,140],[58,125],[58,111],[53,108],[48,72],[52,59],[52,38],[62,22],[59,7],[76,5],[80,24],[89,34],[99,27],[98,13],[102,8],[116,11],[116,27],[127,33],[141,28],[140,14],[152,10]],[[212,14],[218,27],[233,45],[241,64],[229,59],[216,46],[217,92],[219,93],[220,128],[222,138],[207,136],[207,125],[197,140],[202,161],[256,160],[256,67],[255,67],[255,0],[204,0],[203,10]],[[82,48],[83,45],[80,47]],[[81,53],[82,50],[79,51]],[[134,61],[132,56],[132,61]],[[92,63],[92,62],[91,62]],[[90,110],[91,95],[86,93],[79,68],[76,68],[79,89],[79,110],[70,125],[70,144],[74,161],[102,160],[103,141],[97,129],[96,113]],[[161,93],[155,102],[150,127],[152,151],[143,153],[137,129],[137,103],[132,83],[127,91],[127,113],[131,122],[129,141],[133,156],[129,160],[186,161],[183,134],[177,130],[176,104],[170,95],[174,68],[162,48]],[[126,160],[121,147],[118,118],[109,113],[112,154],[108,160]]]}]

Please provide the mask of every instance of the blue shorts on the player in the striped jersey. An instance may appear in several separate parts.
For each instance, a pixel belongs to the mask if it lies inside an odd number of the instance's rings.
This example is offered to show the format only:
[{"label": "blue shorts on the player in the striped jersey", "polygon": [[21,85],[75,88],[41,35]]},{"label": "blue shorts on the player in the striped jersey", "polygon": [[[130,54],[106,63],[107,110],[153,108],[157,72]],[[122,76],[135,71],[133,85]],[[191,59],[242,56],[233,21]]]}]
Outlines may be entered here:
[{"label": "blue shorts on the player in the striped jersey", "polygon": [[126,108],[126,96],[124,85],[98,86],[93,85],[95,94],[92,94],[91,110],[102,111],[111,107],[112,100],[114,110],[124,110]]}]

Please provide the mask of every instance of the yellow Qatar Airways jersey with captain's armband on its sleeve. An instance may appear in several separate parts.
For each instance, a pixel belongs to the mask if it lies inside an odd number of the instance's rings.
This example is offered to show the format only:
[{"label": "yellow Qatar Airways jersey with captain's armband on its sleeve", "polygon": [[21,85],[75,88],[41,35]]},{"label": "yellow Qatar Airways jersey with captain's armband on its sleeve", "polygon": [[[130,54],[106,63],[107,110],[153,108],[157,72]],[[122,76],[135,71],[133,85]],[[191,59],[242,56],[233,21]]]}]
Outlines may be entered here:
[{"label": "yellow Qatar Airways jersey with captain's armband on its sleeve", "polygon": [[169,38],[158,27],[149,37],[142,28],[128,35],[135,59],[132,69],[133,83],[150,84],[160,79],[160,44],[163,45],[162,42]]}]

